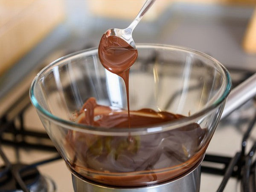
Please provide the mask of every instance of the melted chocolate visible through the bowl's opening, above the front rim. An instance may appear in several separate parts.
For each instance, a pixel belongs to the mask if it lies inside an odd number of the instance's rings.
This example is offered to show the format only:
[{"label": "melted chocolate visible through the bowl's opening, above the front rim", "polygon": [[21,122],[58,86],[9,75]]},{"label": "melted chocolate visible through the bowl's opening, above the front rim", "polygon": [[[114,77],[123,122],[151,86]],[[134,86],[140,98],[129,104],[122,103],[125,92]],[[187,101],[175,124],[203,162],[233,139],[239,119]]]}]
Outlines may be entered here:
[{"label": "melted chocolate visible through the bowl's opening, above the front rim", "polygon": [[[130,127],[152,126],[183,117],[169,112],[156,112],[152,109],[130,111]],[[127,127],[129,117],[126,110],[101,106],[94,97],[90,97],[80,111],[79,123],[104,128]]]}]

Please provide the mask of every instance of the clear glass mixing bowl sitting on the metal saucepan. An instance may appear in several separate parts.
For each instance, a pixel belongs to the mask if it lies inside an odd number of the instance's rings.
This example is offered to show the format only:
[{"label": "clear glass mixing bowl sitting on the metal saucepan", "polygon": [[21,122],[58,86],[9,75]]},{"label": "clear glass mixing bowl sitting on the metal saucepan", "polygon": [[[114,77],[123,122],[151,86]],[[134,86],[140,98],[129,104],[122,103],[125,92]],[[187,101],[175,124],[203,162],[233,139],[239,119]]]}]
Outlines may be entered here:
[{"label": "clear glass mixing bowl sitting on the metal saucepan", "polygon": [[98,49],[55,60],[32,82],[30,98],[49,137],[67,166],[84,178],[115,186],[171,180],[204,156],[218,124],[231,89],[221,63],[182,47],[141,44],[137,49],[130,69],[130,109],[187,117],[132,129],[77,123],[89,97],[127,109],[124,82],[102,66]]}]

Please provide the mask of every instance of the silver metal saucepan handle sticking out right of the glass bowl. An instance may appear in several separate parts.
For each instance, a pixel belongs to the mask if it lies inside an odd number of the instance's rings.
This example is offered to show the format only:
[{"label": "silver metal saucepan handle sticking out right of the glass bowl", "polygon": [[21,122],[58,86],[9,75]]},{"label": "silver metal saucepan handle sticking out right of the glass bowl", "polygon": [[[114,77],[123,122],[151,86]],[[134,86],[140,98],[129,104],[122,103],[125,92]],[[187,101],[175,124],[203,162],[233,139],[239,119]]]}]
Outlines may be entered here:
[{"label": "silver metal saucepan handle sticking out right of the glass bowl", "polygon": [[234,110],[239,108],[247,100],[256,95],[256,73],[232,89],[227,97],[227,102],[221,115],[221,119],[227,117]]}]

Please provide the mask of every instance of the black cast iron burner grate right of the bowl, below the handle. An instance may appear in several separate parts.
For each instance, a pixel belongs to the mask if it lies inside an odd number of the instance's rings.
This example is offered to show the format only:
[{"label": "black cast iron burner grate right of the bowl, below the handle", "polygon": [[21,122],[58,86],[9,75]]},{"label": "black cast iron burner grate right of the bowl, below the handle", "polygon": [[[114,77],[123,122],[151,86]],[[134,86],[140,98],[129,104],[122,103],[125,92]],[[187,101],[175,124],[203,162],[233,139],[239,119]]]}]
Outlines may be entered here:
[{"label": "black cast iron burner grate right of the bowl, below the handle", "polygon": [[256,191],[256,160],[253,160],[253,157],[256,156],[256,141],[253,143],[253,146],[250,148],[249,152],[245,153],[247,141],[255,124],[256,113],[253,119],[249,122],[247,130],[243,135],[241,151],[236,152],[236,155],[233,158],[209,154],[205,155],[204,161],[221,163],[224,165],[223,169],[203,165],[201,166],[202,172],[215,175],[224,175],[217,192],[222,192],[224,190],[230,177],[235,177],[238,180],[241,180],[242,192]]}]

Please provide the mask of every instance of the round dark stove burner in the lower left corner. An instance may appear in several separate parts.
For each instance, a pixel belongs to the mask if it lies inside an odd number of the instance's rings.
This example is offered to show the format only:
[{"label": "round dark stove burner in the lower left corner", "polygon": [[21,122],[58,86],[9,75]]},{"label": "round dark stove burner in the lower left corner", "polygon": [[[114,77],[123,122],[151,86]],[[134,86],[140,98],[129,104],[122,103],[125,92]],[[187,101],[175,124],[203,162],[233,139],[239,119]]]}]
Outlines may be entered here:
[{"label": "round dark stove burner in the lower left corner", "polygon": [[28,168],[26,164],[12,164],[9,171],[6,166],[0,167],[0,191],[1,192],[23,192],[17,180],[21,179],[30,192],[47,192],[49,182],[36,169]]}]

